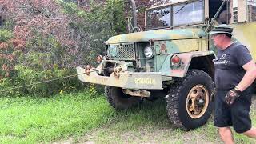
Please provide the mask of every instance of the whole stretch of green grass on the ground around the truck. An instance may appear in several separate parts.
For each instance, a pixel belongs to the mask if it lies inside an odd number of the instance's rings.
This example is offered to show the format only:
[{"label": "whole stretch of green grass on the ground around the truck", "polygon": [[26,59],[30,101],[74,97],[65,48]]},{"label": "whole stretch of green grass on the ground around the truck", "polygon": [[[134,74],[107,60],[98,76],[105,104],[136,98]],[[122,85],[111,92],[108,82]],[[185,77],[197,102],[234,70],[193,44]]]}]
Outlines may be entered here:
[{"label": "whole stretch of green grass on the ground around the truck", "polygon": [[[254,100],[255,101],[255,100]],[[256,105],[251,119],[256,125]],[[237,143],[255,143],[234,134]],[[174,129],[165,99],[116,111],[99,94],[61,94],[52,98],[0,98],[0,143],[221,143],[213,118],[190,131]]]}]

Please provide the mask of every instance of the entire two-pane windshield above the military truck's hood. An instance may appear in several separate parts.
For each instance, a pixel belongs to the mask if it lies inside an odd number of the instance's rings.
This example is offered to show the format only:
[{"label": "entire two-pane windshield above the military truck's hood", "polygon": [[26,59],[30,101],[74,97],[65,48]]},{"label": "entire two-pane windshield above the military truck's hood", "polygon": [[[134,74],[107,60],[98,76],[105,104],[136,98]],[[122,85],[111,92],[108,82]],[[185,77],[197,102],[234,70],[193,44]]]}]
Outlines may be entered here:
[{"label": "entire two-pane windshield above the military truck's hood", "polygon": [[203,23],[203,20],[204,3],[202,0],[182,2],[146,11],[146,29],[148,30]]}]

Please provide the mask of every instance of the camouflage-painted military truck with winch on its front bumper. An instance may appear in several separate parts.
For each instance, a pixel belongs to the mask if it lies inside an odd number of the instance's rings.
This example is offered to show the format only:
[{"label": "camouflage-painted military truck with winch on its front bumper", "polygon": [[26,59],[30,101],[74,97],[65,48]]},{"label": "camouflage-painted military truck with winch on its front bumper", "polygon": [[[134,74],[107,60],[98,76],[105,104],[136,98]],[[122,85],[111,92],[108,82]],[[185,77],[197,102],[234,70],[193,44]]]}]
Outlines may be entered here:
[{"label": "camouflage-painted military truck with winch on its front bumper", "polygon": [[138,31],[133,4],[133,33],[105,42],[99,65],[77,67],[78,78],[105,86],[106,98],[118,110],[143,99],[166,98],[174,126],[202,126],[213,110],[216,48],[208,32],[218,24],[234,27],[256,56],[256,0],[180,0],[145,11],[145,31]]}]

